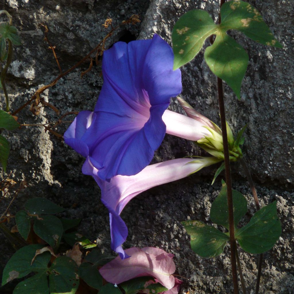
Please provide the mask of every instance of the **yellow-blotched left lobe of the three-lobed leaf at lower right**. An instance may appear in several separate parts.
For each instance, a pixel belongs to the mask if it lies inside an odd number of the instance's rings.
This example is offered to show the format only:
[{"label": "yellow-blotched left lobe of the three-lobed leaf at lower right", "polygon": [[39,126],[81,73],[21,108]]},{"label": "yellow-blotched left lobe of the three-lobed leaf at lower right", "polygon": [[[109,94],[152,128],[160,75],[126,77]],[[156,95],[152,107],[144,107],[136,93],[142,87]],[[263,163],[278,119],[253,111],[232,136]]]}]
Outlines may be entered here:
[{"label": "yellow-blotched left lobe of the three-lobed leaf at lower right", "polygon": [[192,250],[202,257],[214,257],[223,252],[229,237],[211,225],[198,220],[184,221],[187,233],[191,236]]}]

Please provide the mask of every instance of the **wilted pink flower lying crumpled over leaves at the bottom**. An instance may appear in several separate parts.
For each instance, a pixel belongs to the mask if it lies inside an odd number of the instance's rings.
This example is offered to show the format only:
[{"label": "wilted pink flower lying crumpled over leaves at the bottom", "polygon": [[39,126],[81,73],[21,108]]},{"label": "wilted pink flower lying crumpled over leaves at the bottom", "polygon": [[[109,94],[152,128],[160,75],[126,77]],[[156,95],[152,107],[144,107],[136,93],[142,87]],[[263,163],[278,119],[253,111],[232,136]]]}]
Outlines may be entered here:
[{"label": "wilted pink flower lying crumpled over leaves at the bottom", "polygon": [[133,247],[125,251],[126,254],[131,255],[130,258],[121,259],[117,256],[99,270],[106,281],[119,284],[133,278],[151,276],[168,289],[175,287],[178,279],[172,275],[176,270],[173,254],[152,247],[142,249]]}]

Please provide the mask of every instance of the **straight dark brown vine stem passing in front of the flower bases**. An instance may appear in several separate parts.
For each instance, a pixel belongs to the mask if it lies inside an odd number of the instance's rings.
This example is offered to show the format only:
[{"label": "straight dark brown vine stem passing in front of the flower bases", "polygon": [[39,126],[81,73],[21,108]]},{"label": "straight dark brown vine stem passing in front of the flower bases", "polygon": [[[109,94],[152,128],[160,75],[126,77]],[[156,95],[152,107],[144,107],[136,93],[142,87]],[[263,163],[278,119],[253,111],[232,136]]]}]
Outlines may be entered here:
[{"label": "straight dark brown vine stem passing in front of the flower bases", "polygon": [[219,110],[220,110],[220,122],[221,122],[222,136],[223,136],[223,153],[224,153],[224,157],[225,157],[225,181],[227,184],[231,266],[232,266],[234,294],[238,294],[239,289],[238,289],[238,275],[237,275],[237,266],[236,266],[236,247],[235,247],[232,180],[231,180],[231,171],[230,171],[230,158],[229,158],[227,128],[226,128],[226,123],[225,123],[225,105],[224,105],[224,99],[223,99],[223,80],[218,77],[217,81],[218,81],[218,104],[219,104]]}]

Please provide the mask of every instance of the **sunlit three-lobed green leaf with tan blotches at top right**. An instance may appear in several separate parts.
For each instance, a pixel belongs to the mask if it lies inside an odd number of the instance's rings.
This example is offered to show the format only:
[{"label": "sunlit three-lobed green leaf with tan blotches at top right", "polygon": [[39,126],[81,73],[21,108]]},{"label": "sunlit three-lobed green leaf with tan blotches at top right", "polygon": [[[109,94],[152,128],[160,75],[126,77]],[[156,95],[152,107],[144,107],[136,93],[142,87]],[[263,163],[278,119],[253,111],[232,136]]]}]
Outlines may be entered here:
[{"label": "sunlit three-lobed green leaf with tan blotches at top right", "polygon": [[240,99],[241,83],[248,65],[248,55],[226,33],[238,30],[261,44],[281,48],[260,13],[245,1],[228,1],[220,9],[221,23],[215,24],[201,9],[188,11],[176,22],[173,32],[174,69],[191,61],[199,53],[204,41],[216,35],[206,48],[204,59],[211,71],[223,79]]}]

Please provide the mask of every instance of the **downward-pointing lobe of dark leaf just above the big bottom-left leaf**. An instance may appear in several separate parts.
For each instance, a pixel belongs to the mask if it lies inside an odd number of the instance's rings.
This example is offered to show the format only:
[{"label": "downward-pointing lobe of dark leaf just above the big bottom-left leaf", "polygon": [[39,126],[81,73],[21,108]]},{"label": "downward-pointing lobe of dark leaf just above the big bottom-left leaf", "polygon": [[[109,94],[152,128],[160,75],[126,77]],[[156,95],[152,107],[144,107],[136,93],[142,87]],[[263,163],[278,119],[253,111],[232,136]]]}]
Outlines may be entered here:
[{"label": "downward-pointing lobe of dark leaf just above the big bottom-left leaf", "polygon": [[59,247],[63,227],[56,216],[42,216],[41,220],[34,221],[34,232],[56,250]]}]

